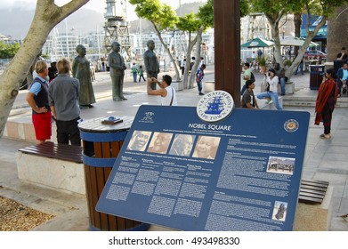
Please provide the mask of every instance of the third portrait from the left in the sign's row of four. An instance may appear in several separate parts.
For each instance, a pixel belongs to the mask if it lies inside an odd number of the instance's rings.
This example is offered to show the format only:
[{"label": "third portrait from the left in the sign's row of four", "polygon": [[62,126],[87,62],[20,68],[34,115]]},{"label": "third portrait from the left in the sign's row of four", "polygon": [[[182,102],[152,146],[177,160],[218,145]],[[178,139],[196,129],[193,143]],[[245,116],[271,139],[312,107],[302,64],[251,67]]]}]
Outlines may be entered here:
[{"label": "third portrait from the left in the sign's row of four", "polygon": [[172,147],[169,150],[170,155],[190,157],[195,135],[176,134]]}]

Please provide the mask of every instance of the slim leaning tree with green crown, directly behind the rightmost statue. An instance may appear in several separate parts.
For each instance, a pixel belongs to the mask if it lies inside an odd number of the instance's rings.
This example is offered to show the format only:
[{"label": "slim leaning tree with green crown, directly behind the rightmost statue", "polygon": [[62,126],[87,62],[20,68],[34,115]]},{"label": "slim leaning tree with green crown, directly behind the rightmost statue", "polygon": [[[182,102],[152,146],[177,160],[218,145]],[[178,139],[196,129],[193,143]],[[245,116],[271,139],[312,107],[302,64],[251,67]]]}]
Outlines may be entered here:
[{"label": "slim leaning tree with green crown, directly behind the rightmost statue", "polygon": [[155,28],[159,41],[164,46],[169,55],[175,69],[175,77],[180,80],[180,73],[178,65],[170,52],[168,44],[165,43],[161,32],[173,30],[175,24],[178,22],[178,17],[173,11],[172,7],[167,4],[161,4],[158,0],[129,0],[130,4],[135,5],[135,12],[138,17],[150,20],[152,26]]}]

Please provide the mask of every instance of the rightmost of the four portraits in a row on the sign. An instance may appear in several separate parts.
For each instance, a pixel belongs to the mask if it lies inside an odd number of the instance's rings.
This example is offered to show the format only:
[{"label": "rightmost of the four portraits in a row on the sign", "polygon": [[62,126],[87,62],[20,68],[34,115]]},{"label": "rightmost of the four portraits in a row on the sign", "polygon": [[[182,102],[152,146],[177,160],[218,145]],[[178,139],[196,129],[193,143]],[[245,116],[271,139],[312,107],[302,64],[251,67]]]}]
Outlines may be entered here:
[{"label": "rightmost of the four portraits in a row on the sign", "polygon": [[214,159],[219,143],[219,137],[198,136],[196,148],[193,151],[192,157]]}]

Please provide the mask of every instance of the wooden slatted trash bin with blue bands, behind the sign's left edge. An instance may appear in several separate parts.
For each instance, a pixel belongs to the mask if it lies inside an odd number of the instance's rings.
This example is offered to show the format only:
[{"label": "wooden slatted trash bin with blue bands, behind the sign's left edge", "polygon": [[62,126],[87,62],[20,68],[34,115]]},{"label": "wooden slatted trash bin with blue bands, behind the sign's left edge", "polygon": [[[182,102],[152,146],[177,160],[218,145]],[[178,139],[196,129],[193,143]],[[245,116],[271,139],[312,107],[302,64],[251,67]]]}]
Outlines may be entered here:
[{"label": "wooden slatted trash bin with blue bands, behind the sign's left edge", "polygon": [[94,231],[147,230],[150,224],[99,213],[95,210],[102,189],[134,120],[133,117],[122,116],[122,123],[101,124],[104,118],[85,120],[78,124],[83,141],[89,229]]}]

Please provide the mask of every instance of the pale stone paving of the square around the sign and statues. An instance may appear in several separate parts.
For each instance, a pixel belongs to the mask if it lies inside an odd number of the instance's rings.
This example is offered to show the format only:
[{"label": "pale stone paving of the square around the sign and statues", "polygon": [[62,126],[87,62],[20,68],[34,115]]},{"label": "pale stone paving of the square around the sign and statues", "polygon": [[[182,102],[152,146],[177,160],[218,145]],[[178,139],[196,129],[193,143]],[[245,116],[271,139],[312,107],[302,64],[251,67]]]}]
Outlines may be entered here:
[{"label": "pale stone paving of the square around the sign and statues", "polygon": [[[259,92],[261,75],[256,73],[255,77],[255,92]],[[309,78],[309,73],[304,76],[293,76],[291,80],[295,82],[295,94],[291,96],[298,97],[302,95],[315,98],[317,91],[309,89]],[[206,69],[206,80],[214,80],[212,67]],[[127,82],[125,84],[125,97],[128,100],[114,102],[111,100],[111,91],[108,86],[110,84],[109,74],[98,73],[94,84],[105,84],[105,91],[96,94],[97,103],[94,108],[83,109],[81,117],[89,119],[111,115],[134,116],[142,104],[159,103],[159,97],[146,94],[145,83],[131,83],[131,77],[127,77],[125,82]],[[287,96],[287,98],[291,98],[291,96]],[[342,99],[344,98],[346,97]],[[197,88],[178,92],[178,102],[182,106],[196,106],[198,100]],[[20,105],[17,107],[23,108]],[[303,165],[303,179],[329,181],[330,186],[334,187],[330,230],[347,231],[348,221],[341,216],[348,213],[348,109],[335,109],[331,140],[320,140],[319,135],[323,132],[323,127],[322,125],[313,124],[313,108],[292,107],[285,109],[306,110],[311,113]],[[30,116],[30,113],[24,112],[20,116]],[[33,143],[28,141],[0,139],[0,196],[12,198],[24,205],[56,215],[56,218],[52,221],[36,227],[35,230],[87,230],[88,213],[85,196],[64,194],[51,189],[39,188],[25,184],[18,179],[16,152],[18,149],[31,144]],[[154,229],[161,228],[155,227]]]}]

